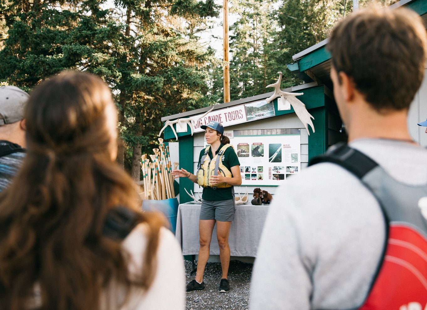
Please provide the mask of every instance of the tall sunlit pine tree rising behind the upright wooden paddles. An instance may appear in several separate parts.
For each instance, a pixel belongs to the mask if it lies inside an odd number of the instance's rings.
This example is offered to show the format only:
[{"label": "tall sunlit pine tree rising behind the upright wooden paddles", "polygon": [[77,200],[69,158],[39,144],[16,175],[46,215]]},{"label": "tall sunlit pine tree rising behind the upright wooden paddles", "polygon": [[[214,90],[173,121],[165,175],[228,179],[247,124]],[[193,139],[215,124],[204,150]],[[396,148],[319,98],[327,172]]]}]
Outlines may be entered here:
[{"label": "tall sunlit pine tree rising behind the upright wooden paddles", "polygon": [[[132,148],[130,170],[140,178],[142,151],[152,154],[161,117],[213,103],[208,68],[213,50],[198,44],[199,27],[217,15],[213,0],[116,1],[126,12],[128,52],[122,59],[122,137]],[[132,34],[131,34],[132,33]],[[121,70],[121,69],[120,69]]]}]

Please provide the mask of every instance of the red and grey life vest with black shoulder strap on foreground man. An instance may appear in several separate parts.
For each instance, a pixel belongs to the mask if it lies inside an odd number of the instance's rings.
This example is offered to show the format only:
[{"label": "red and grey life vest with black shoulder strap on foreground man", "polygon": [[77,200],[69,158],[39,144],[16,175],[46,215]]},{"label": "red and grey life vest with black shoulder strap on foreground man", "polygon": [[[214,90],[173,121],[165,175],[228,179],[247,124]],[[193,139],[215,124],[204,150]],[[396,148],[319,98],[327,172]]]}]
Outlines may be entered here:
[{"label": "red and grey life vest with black shoulder strap on foreground man", "polygon": [[359,309],[427,310],[427,184],[399,183],[344,144],[334,145],[309,165],[319,162],[333,162],[357,176],[377,198],[386,220],[383,256]]}]

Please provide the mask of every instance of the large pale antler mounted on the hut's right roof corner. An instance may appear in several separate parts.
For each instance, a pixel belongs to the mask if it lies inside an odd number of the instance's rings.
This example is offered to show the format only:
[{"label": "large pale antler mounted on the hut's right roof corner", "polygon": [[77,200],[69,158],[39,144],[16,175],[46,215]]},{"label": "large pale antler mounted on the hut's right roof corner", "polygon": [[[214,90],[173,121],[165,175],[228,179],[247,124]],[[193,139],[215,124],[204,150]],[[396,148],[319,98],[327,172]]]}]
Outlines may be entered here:
[{"label": "large pale antler mounted on the hut's right roof corner", "polygon": [[307,108],[305,107],[305,104],[302,103],[298,98],[296,98],[296,96],[301,96],[304,95],[304,93],[287,93],[284,92],[280,89],[280,82],[282,81],[282,72],[277,72],[279,74],[279,79],[277,80],[276,83],[274,84],[270,84],[267,85],[267,87],[274,87],[274,94],[272,96],[270,96],[269,98],[266,99],[266,102],[269,103],[271,102],[273,99],[277,98],[277,97],[281,97],[282,99],[284,99],[284,101],[288,101],[294,111],[295,114],[298,116],[298,118],[301,120],[302,124],[304,125],[305,129],[307,130],[308,135],[310,136],[310,131],[308,131],[308,125],[311,126],[311,129],[314,132],[314,126],[313,126],[313,122],[311,121],[310,118],[314,119],[314,117],[308,113]]}]

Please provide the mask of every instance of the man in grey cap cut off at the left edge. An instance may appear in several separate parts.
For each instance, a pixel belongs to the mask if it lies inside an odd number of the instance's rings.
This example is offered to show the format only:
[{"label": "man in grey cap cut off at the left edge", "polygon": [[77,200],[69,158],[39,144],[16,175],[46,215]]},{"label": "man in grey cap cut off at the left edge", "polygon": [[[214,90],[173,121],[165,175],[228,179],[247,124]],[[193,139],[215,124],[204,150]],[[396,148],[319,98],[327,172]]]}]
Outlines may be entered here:
[{"label": "man in grey cap cut off at the left edge", "polygon": [[0,191],[12,182],[25,157],[24,108],[28,98],[16,86],[0,87]]}]

